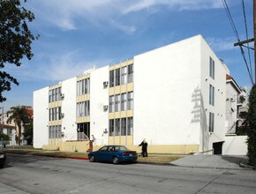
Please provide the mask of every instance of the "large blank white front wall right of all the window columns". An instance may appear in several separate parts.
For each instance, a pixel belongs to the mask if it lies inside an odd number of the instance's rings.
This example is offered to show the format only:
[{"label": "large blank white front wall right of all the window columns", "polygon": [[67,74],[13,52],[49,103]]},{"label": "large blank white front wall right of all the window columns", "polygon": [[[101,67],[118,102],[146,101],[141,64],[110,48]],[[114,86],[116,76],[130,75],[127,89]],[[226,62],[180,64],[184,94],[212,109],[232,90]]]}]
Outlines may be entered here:
[{"label": "large blank white front wall right of all the window columns", "polygon": [[134,56],[135,145],[200,144],[200,38]]}]

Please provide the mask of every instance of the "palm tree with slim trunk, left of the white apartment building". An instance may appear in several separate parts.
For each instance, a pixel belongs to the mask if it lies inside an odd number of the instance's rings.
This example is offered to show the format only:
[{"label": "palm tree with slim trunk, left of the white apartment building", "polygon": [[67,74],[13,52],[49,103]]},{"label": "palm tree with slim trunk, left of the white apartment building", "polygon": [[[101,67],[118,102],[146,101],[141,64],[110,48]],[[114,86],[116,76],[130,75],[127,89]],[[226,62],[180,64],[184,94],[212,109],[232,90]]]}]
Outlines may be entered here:
[{"label": "palm tree with slim trunk, left of the white apartment building", "polygon": [[7,114],[11,115],[7,119],[7,123],[11,123],[11,121],[13,121],[16,126],[18,126],[20,146],[21,126],[25,125],[25,123],[29,123],[31,119],[30,115],[27,113],[27,108],[23,106],[12,107],[11,110],[7,112]]}]

